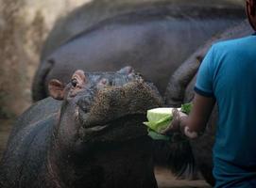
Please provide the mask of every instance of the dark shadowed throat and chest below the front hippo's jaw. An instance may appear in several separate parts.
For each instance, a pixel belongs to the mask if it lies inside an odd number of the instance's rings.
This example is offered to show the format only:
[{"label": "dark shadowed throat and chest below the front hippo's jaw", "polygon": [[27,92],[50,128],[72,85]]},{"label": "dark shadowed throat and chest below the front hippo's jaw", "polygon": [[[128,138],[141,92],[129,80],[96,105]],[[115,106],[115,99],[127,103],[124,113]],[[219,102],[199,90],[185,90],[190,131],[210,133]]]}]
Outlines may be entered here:
[{"label": "dark shadowed throat and chest below the front hippo's jaw", "polygon": [[[83,156],[60,159],[52,150],[48,164],[55,168],[61,187],[157,187],[151,140],[145,136],[118,143],[94,144]],[[58,183],[57,183],[58,184]]]}]

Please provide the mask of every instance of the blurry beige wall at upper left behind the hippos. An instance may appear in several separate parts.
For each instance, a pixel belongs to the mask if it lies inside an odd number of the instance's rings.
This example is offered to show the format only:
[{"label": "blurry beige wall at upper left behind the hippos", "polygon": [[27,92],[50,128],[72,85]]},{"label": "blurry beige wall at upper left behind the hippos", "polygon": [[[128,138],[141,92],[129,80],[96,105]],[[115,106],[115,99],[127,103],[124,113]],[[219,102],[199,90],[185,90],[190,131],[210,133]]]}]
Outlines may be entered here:
[{"label": "blurry beige wall at upper left behind the hippos", "polygon": [[31,103],[31,80],[56,19],[90,0],[0,0],[0,118]]}]

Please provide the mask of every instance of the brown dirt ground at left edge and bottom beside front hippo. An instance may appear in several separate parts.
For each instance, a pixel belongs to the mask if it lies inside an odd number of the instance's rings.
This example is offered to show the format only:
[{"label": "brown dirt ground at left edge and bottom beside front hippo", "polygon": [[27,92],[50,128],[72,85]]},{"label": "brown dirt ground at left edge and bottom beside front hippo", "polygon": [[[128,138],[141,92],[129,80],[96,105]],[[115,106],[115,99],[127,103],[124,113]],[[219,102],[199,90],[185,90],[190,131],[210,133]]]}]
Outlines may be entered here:
[{"label": "brown dirt ground at left edge and bottom beside front hippo", "polygon": [[[12,124],[13,120],[11,119],[0,119],[0,159],[6,147]],[[155,168],[155,175],[159,188],[211,188],[205,180],[178,180],[168,169],[159,166]]]}]

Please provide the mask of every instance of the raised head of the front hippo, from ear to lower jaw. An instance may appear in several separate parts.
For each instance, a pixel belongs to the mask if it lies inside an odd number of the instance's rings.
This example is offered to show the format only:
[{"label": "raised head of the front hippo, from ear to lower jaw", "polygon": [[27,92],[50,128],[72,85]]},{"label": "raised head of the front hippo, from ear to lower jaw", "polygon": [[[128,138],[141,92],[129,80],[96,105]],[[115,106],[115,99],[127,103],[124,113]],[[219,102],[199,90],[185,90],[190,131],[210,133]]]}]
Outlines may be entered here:
[{"label": "raised head of the front hippo, from ear to lower jaw", "polygon": [[66,86],[50,81],[49,92],[63,100],[58,136],[70,137],[69,145],[145,135],[146,110],[162,104],[157,89],[130,67],[104,73],[78,70]]}]

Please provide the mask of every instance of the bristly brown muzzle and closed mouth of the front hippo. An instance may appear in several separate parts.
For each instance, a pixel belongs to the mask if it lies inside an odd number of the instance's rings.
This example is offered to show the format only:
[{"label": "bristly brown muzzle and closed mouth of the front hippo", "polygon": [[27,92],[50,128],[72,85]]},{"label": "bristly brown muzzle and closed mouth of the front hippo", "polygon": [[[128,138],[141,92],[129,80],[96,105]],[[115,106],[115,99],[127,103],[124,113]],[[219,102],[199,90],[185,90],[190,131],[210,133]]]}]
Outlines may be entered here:
[{"label": "bristly brown muzzle and closed mouth of the front hippo", "polygon": [[[97,136],[101,140],[131,139],[146,134],[143,126],[146,111],[162,105],[155,87],[144,81],[132,81],[124,86],[109,86],[95,91],[87,108],[86,98],[78,102],[78,119],[86,140]],[[90,136],[89,136],[90,135]],[[109,139],[108,139],[109,140]]]}]

